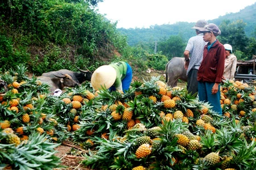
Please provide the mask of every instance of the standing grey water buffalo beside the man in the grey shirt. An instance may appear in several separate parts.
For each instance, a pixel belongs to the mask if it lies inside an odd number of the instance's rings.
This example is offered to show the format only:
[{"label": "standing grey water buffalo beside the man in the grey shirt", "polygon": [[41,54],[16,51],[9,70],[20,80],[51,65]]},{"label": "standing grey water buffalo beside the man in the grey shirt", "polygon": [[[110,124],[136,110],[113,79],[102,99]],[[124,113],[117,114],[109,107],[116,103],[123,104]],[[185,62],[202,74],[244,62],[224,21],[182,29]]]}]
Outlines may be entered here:
[{"label": "standing grey water buffalo beside the man in the grey shirt", "polygon": [[184,57],[173,57],[166,64],[166,82],[170,87],[177,86],[177,80],[187,81]]}]

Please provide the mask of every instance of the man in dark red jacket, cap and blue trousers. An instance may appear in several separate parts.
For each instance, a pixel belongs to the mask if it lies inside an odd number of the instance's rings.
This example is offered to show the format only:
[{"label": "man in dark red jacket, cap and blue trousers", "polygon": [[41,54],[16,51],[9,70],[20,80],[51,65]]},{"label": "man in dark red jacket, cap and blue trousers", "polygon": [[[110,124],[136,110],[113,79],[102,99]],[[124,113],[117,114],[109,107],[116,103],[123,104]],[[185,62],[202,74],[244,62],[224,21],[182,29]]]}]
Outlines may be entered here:
[{"label": "man in dark red jacket, cap and blue trousers", "polygon": [[222,115],[220,83],[225,65],[225,47],[216,38],[221,31],[216,24],[210,23],[200,32],[208,44],[204,47],[203,60],[197,72],[199,100],[208,102],[214,111]]}]

